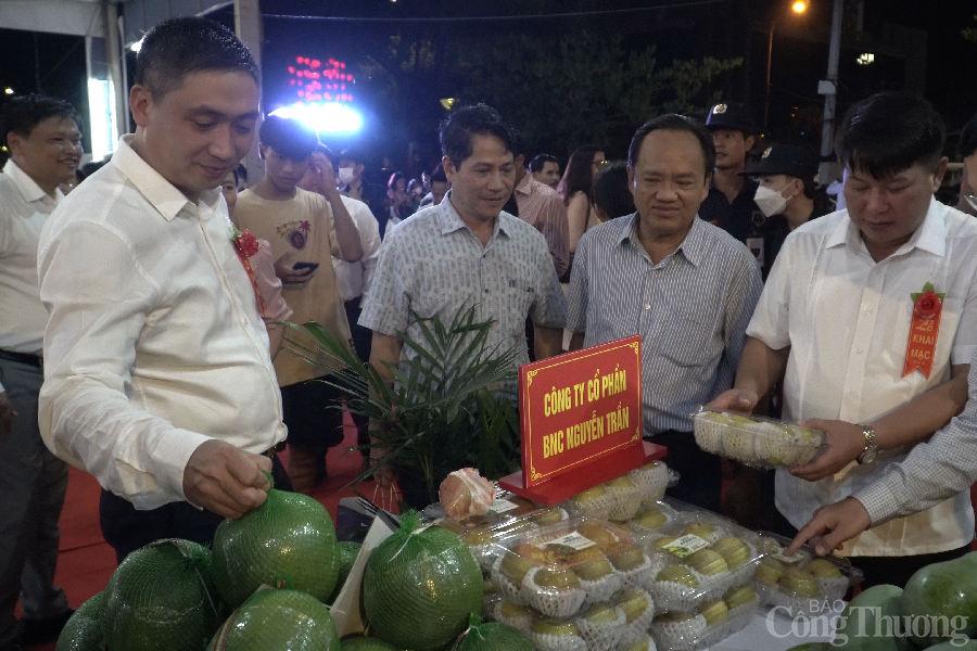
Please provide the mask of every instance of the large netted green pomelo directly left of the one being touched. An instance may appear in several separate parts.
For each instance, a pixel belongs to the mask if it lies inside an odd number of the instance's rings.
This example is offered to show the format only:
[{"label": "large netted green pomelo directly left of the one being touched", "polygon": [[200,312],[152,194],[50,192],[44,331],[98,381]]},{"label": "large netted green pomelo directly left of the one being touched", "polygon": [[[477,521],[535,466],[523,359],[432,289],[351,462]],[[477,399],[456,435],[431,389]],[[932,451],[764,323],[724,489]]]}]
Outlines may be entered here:
[{"label": "large netted green pomelo directly left of the one being touched", "polygon": [[223,620],[211,550],[190,540],[137,549],[105,587],[102,631],[113,651],[200,651]]}]

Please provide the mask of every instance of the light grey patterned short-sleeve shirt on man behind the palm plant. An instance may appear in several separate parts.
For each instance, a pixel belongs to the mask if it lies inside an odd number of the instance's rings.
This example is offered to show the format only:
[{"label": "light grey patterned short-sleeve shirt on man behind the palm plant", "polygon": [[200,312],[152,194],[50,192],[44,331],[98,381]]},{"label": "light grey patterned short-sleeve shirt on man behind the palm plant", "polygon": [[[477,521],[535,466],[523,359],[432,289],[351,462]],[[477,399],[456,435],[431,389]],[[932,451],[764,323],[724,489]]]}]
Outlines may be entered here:
[{"label": "light grey patterned short-sleeve shirt on man behind the palm plant", "polygon": [[[462,305],[475,305],[479,321],[495,320],[488,348],[517,349],[529,362],[525,319],[562,328],[567,298],[546,240],[532,226],[499,213],[486,246],[472,234],[451,202],[416,213],[386,234],[359,324],[383,334],[422,341],[410,310],[451,323]],[[402,357],[411,357],[404,346]]]}]

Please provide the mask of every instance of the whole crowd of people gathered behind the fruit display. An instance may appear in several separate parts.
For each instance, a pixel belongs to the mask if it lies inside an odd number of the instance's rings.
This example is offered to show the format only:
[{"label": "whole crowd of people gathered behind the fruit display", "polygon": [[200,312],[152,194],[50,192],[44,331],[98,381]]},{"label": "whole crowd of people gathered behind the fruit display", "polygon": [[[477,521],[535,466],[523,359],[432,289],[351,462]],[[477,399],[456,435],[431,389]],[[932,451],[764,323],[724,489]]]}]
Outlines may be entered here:
[{"label": "whole crowd of people gathered behind the fruit display", "polygon": [[[263,503],[263,471],[304,493],[326,475],[342,395],[282,352],[286,320],[318,322],[389,381],[418,354],[418,320],[464,306],[513,365],[640,334],[644,432],[669,448],[675,497],[724,508],[721,460],[690,434],[698,405],[765,410],[829,443],[729,489],[756,490],[795,546],[840,550],[867,585],[968,550],[977,220],[934,199],[946,127],[923,99],[852,107],[832,206],[813,150],[748,162],[756,133],[731,104],[650,119],[626,161],[582,146],[562,174],[549,154],[526,163],[494,108],[461,107],[442,164],[384,191],[361,153],[293,118],[256,129],[257,66],[215,23],[154,27],[135,80],[135,133],[76,187],[74,107],[25,95],[0,114],[0,650],[72,612],[54,585],[66,463],[103,487],[119,561],[157,538],[210,542]],[[265,175],[245,189],[255,138]],[[977,213],[977,119],[960,155],[960,206]]]}]

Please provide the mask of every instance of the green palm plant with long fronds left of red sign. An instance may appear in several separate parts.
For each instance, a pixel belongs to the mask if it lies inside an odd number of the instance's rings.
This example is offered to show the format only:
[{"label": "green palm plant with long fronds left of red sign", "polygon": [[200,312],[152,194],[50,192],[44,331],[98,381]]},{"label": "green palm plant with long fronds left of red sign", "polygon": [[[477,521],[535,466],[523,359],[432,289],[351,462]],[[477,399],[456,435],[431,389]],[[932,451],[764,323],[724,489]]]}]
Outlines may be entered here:
[{"label": "green palm plant with long fronds left of red sign", "polygon": [[515,348],[488,345],[494,321],[477,321],[473,305],[462,306],[449,323],[413,310],[410,317],[420,336],[399,335],[411,359],[384,362],[393,384],[316,322],[286,323],[287,349],[328,373],[322,381],[346,394],[348,411],[379,424],[375,443],[365,447],[383,450],[378,463],[423,477],[432,502],[442,480],[459,468],[478,468],[490,480],[519,470]]}]

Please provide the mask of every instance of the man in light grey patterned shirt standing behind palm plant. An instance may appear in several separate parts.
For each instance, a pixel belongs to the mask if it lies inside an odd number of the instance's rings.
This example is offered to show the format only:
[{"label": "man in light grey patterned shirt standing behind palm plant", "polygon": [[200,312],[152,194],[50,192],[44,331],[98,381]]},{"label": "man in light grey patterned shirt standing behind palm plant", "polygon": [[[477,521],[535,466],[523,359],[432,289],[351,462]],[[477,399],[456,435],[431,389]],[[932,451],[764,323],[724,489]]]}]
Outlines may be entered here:
[{"label": "man in light grey patterned shirt standing behind palm plant", "polygon": [[[411,310],[448,323],[460,307],[474,304],[478,320],[495,321],[488,348],[515,348],[518,365],[529,362],[529,317],[536,359],[560,353],[567,298],[549,247],[540,231],[503,210],[516,180],[515,132],[494,108],[480,104],[452,113],[441,144],[452,190],[441,204],[388,233],[359,318],[373,331],[370,362],[388,381],[393,375],[382,362],[416,355],[403,346],[401,333],[423,340]],[[372,450],[375,459],[382,455]],[[392,481],[389,467],[373,476],[384,486]],[[404,477],[401,484],[404,489]]]}]

